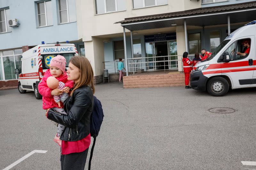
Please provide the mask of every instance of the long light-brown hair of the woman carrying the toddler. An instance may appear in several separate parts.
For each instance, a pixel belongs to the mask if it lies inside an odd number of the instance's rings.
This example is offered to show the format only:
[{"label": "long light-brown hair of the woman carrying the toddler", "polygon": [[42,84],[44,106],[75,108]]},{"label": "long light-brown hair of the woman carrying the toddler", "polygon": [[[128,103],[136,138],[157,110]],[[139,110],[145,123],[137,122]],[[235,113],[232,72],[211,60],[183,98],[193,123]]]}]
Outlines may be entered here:
[{"label": "long light-brown hair of the woman carrying the toddler", "polygon": [[69,60],[74,66],[76,66],[80,71],[80,79],[74,85],[73,90],[70,95],[83,85],[89,85],[92,88],[92,93],[94,94],[95,88],[93,84],[93,70],[89,60],[83,56],[74,56]]}]

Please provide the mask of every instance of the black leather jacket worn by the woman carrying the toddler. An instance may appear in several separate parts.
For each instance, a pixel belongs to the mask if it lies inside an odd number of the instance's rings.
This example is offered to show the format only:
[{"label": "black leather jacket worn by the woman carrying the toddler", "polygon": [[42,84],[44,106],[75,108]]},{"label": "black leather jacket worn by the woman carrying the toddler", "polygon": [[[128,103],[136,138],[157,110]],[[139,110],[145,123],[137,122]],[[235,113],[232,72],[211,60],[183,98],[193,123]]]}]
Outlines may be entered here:
[{"label": "black leather jacket worn by the woman carrying the toddler", "polygon": [[68,115],[61,114],[53,108],[49,109],[47,118],[66,126],[61,140],[77,141],[90,133],[90,118],[93,109],[93,94],[90,86],[76,89],[64,102],[64,110]]}]

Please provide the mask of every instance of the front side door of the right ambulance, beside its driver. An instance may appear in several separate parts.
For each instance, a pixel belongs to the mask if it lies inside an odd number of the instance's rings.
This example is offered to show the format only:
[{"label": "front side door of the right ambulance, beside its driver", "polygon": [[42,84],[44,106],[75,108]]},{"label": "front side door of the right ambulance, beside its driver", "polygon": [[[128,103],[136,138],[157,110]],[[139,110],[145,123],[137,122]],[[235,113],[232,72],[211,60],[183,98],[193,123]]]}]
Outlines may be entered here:
[{"label": "front side door of the right ambulance, beside its driver", "polygon": [[[246,48],[244,42],[250,42],[248,55],[237,55],[237,52],[244,53]],[[251,48],[253,47],[253,48]],[[229,54],[229,62],[221,63],[221,74],[227,75],[233,82],[233,88],[250,87],[255,65],[255,38],[246,36],[236,39],[225,50]],[[244,53],[245,54],[245,53]]]}]

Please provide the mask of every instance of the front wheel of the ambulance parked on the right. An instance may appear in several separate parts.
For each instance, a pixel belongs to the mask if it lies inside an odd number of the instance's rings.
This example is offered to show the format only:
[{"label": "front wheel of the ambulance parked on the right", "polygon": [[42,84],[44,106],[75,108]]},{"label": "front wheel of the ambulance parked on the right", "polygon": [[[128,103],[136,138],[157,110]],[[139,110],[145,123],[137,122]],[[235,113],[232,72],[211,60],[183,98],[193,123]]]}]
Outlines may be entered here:
[{"label": "front wheel of the ambulance parked on the right", "polygon": [[228,81],[223,77],[214,77],[207,83],[207,91],[212,96],[224,96],[228,89]]}]

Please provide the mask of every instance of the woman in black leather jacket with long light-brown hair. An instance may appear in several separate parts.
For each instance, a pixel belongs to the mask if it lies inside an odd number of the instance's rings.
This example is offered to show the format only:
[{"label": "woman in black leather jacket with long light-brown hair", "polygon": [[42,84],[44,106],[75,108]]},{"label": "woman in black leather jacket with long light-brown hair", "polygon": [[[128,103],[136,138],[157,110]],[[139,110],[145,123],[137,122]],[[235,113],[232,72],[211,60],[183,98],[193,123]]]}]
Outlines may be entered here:
[{"label": "woman in black leather jacket with long light-brown hair", "polygon": [[[48,109],[46,117],[60,123],[64,129],[61,139],[61,169],[84,170],[88,148],[91,143],[90,118],[93,109],[93,71],[89,60],[85,57],[72,57],[68,64],[68,80],[75,85],[69,98],[64,102],[68,115]],[[58,95],[58,89],[52,95]]]}]

